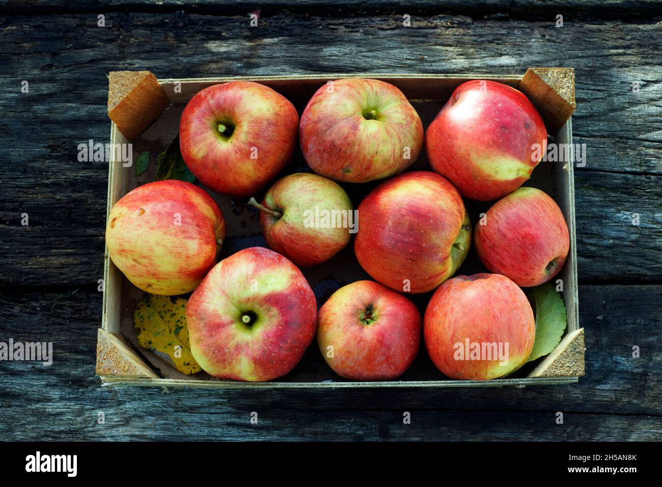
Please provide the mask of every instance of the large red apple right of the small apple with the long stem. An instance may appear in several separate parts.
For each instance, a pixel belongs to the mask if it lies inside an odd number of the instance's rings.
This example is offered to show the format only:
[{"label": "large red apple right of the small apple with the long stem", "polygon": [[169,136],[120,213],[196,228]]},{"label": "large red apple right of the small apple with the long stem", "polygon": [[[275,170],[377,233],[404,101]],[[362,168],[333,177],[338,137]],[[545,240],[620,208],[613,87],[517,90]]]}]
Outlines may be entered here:
[{"label": "large red apple right of the small apple with the long stem", "polygon": [[354,252],[375,280],[423,293],[455,274],[471,244],[471,223],[457,189],[429,171],[383,182],[359,204]]}]

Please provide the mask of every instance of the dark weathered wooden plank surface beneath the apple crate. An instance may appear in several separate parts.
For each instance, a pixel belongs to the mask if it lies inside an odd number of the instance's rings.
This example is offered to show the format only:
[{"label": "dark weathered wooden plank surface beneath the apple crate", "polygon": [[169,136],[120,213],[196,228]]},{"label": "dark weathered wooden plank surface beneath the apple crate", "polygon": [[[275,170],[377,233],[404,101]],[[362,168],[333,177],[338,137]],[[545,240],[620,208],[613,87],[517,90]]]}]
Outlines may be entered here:
[{"label": "dark weathered wooden plank surface beneath the apple crate", "polygon": [[[0,439],[662,439],[659,3],[455,0],[435,7],[430,0],[377,9],[366,1],[278,0],[262,9],[258,27],[248,17],[257,5],[242,0],[105,3],[0,0],[0,341],[54,347],[50,367],[0,362]],[[97,281],[108,168],[79,162],[77,145],[109,139],[108,72],[523,74],[530,66],[576,69],[575,142],[588,154],[575,169],[587,339],[579,383],[101,388]],[[29,225],[21,224],[23,213]]]}]

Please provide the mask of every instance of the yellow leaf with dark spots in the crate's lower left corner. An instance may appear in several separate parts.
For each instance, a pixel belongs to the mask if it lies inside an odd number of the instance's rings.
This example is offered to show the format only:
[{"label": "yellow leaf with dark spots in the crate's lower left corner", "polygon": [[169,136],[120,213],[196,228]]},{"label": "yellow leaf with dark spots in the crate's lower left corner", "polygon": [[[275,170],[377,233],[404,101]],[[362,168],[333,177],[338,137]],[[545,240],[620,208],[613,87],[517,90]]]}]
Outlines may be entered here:
[{"label": "yellow leaf with dark spots in the crate's lower left corner", "polygon": [[136,305],[133,325],[140,347],[167,354],[179,372],[189,375],[202,369],[191,354],[186,303],[182,298],[173,303],[168,296],[148,294]]}]

